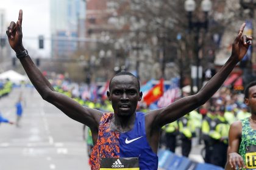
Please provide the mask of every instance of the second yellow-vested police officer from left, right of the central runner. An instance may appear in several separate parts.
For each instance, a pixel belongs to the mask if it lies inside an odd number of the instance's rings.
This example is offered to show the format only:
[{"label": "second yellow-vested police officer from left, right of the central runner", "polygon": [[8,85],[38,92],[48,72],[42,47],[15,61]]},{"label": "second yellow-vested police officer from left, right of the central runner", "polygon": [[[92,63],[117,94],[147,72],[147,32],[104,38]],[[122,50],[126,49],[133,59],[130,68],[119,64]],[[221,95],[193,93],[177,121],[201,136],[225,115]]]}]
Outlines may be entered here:
[{"label": "second yellow-vested police officer from left, right of the central runner", "polygon": [[196,127],[190,118],[190,114],[181,117],[178,121],[182,141],[182,155],[188,157],[191,151],[192,138],[196,137]]}]

